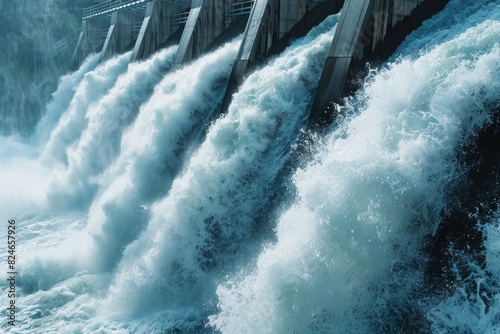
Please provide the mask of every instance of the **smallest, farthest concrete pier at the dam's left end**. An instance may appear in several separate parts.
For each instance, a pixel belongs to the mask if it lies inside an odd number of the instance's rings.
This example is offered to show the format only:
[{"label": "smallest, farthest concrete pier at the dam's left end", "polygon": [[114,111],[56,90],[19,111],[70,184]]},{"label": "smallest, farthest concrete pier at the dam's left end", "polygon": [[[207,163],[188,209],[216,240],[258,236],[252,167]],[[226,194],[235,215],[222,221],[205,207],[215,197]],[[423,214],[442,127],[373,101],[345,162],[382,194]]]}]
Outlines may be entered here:
[{"label": "smallest, farthest concrete pier at the dam's left end", "polygon": [[82,31],[71,60],[74,68],[78,67],[89,54],[97,51],[96,49],[100,46],[100,31],[99,19],[82,21]]}]

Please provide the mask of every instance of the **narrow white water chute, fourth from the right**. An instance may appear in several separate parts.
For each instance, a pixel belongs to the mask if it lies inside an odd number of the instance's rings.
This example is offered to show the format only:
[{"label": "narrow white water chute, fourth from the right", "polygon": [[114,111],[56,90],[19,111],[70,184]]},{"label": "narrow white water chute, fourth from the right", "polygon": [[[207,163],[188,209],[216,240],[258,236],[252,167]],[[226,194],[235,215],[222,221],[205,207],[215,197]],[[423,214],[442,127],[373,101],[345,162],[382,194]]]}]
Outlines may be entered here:
[{"label": "narrow white water chute, fourth from the right", "polygon": [[[149,60],[129,65],[114,87],[86,112],[87,126],[78,142],[66,150],[67,169],[54,173],[48,200],[68,207],[90,202],[97,177],[120,150],[122,131],[134,120],[140,105],[170,69],[177,47],[159,52]],[[56,100],[56,99],[55,99]]]}]

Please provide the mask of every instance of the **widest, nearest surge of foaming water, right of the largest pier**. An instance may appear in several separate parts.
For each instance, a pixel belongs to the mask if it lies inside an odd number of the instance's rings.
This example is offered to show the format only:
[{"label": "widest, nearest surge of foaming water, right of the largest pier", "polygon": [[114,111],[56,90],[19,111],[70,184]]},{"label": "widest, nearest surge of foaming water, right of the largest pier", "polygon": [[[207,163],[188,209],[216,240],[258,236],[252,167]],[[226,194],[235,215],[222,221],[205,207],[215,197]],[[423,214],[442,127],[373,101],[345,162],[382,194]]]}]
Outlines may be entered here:
[{"label": "widest, nearest surge of foaming water, right of the largest pier", "polygon": [[[460,174],[456,148],[500,103],[499,33],[498,21],[471,24],[375,75],[358,97],[359,115],[294,176],[298,197],[278,223],[278,241],[249,272],[219,285],[213,326],[223,333],[400,330],[411,305],[404,300],[422,283],[422,243]],[[399,319],[391,318],[395,310]]]}]

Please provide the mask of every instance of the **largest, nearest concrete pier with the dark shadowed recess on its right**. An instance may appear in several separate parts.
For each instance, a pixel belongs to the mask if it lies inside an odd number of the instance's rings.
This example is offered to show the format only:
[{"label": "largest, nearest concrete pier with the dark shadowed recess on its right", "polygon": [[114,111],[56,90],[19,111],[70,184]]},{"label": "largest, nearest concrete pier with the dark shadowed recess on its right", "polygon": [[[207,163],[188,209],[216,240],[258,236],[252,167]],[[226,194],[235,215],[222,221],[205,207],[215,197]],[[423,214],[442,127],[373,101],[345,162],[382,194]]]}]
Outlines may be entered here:
[{"label": "largest, nearest concrete pier with the dark shadowed recess on its right", "polygon": [[[350,94],[349,77],[363,62],[384,59],[449,0],[346,0],[311,109],[311,122],[330,123]],[[353,66],[357,64],[357,66]]]}]

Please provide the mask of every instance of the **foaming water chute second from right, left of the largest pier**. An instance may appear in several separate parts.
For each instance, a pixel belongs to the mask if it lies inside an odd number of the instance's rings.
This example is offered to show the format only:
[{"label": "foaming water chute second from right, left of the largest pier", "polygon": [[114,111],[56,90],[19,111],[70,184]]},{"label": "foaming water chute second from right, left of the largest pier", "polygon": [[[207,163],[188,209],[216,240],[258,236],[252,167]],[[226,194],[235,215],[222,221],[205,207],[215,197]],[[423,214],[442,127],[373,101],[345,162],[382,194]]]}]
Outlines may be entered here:
[{"label": "foaming water chute second from right, left of the largest pier", "polygon": [[168,196],[153,207],[147,230],[125,251],[110,290],[114,309],[139,313],[196,304],[215,268],[238,254],[298,134],[311,99],[304,92],[317,85],[336,19],[248,77],[228,114],[212,125]]}]

